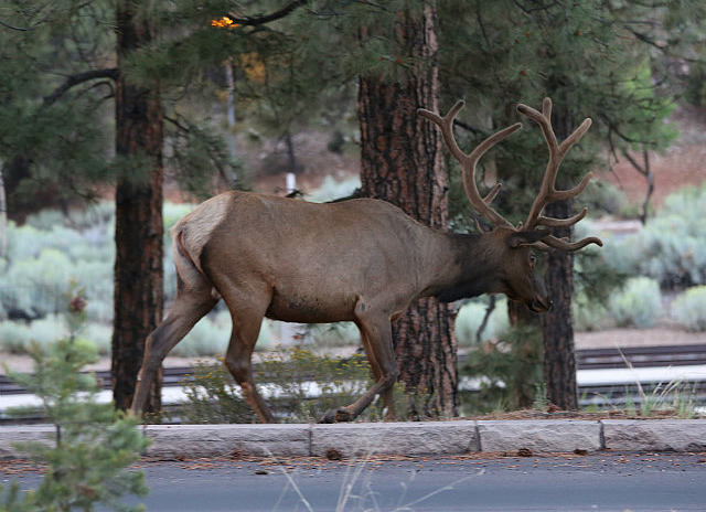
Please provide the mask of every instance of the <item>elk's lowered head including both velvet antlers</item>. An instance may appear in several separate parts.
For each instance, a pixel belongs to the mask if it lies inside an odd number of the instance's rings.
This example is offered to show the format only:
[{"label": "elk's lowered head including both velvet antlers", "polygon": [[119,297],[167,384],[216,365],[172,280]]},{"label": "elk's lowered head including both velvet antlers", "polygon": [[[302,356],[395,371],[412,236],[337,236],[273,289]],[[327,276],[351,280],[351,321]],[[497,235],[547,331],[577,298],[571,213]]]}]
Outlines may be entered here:
[{"label": "elk's lowered head including both velvet antlers", "polygon": [[534,250],[573,252],[588,244],[603,245],[595,236],[578,242],[569,242],[552,234],[550,230],[553,227],[569,227],[579,222],[586,216],[587,209],[569,218],[555,218],[542,214],[544,207],[550,202],[575,198],[588,184],[591,178],[590,172],[571,190],[558,191],[555,182],[561,160],[571,146],[588,131],[591,120],[585,119],[566,140],[559,143],[552,128],[552,100],[549,98],[544,99],[541,113],[526,105],[521,104],[517,106],[517,110],[522,115],[534,120],[542,128],[549,149],[549,161],[542,180],[539,193],[530,210],[527,220],[524,223],[521,222],[517,226],[513,226],[510,221],[490,205],[495,195],[498,195],[501,184],[496,183],[488,195],[481,196],[475,184],[475,166],[485,151],[509,135],[517,131],[522,128],[522,125],[517,122],[493,134],[467,154],[459,148],[453,137],[453,119],[463,105],[463,100],[458,102],[443,117],[425,109],[419,109],[418,113],[441,129],[447,148],[453,158],[459,161],[463,170],[463,186],[471,205],[493,226],[492,231],[484,235],[490,238],[488,242],[491,248],[488,257],[498,260],[498,276],[494,278],[495,282],[492,284],[492,291],[505,294],[512,300],[524,302],[533,311],[547,311],[552,307],[552,300],[535,269]]}]

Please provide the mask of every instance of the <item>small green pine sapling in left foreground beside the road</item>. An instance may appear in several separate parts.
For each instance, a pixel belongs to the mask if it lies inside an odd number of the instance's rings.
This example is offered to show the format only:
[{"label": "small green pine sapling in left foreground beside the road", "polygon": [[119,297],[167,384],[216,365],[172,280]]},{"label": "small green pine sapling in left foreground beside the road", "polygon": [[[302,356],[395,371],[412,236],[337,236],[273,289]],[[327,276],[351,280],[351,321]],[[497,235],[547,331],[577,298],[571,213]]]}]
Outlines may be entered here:
[{"label": "small green pine sapling in left foreground beside the road", "polygon": [[10,377],[41,399],[41,414],[55,427],[47,442],[24,442],[19,448],[38,463],[46,465],[39,488],[22,499],[10,489],[2,510],[138,511],[122,503],[125,494],[146,495],[143,474],[127,471],[147,447],[135,418],[101,404],[95,375],[81,370],[97,360],[96,346],[77,337],[85,321],[85,300],[71,299],[66,322],[68,337],[45,346],[34,344],[33,374],[8,371]]}]

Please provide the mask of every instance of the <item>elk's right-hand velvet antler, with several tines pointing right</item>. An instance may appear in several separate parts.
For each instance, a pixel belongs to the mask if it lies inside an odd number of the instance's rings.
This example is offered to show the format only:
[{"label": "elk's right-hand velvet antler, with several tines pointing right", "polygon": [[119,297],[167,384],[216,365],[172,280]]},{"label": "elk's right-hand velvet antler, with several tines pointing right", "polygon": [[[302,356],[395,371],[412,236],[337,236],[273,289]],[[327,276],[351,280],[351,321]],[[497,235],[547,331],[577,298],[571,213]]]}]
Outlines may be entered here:
[{"label": "elk's right-hand velvet antler, with several tines pointing right", "polygon": [[[554,132],[554,128],[552,127],[552,99],[544,98],[544,102],[542,103],[542,113],[523,104],[517,105],[517,110],[539,125],[539,127],[542,128],[542,132],[544,134],[544,138],[547,142],[547,147],[549,149],[549,161],[547,163],[546,171],[544,172],[542,188],[539,189],[539,193],[537,194],[537,198],[535,199],[532,209],[530,210],[527,221],[522,228],[525,231],[530,231],[538,226],[573,226],[586,216],[588,209],[584,209],[579,214],[574,215],[569,218],[547,217],[542,215],[542,212],[547,204],[554,201],[566,201],[568,199],[576,198],[584,191],[589,180],[591,179],[592,174],[589,172],[574,189],[556,190],[556,175],[559,171],[561,160],[564,160],[564,157],[566,156],[568,150],[571,149],[571,147],[576,142],[578,142],[578,140],[588,131],[591,126],[591,120],[590,118],[584,119],[584,122],[581,122],[581,125],[576,130],[574,130],[574,132],[568,136],[566,140],[559,143],[557,141],[556,134]],[[600,238],[597,238],[595,236],[584,238],[578,242],[568,242],[565,238],[557,238],[556,236],[550,235],[545,237],[542,243],[560,250],[578,250],[581,247],[586,247],[588,244],[597,244],[601,246],[603,245]]]}]

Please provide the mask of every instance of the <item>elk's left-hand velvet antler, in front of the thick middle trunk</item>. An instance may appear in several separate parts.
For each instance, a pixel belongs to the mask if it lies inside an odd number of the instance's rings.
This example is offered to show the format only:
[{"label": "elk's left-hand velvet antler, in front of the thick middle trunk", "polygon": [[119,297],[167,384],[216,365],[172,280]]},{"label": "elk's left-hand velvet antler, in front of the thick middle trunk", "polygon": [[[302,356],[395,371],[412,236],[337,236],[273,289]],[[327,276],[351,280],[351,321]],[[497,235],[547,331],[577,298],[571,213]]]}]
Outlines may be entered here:
[{"label": "elk's left-hand velvet antler, in front of the thick middle trunk", "polygon": [[466,105],[466,102],[463,102],[462,99],[458,100],[456,105],[453,105],[453,107],[451,107],[448,114],[443,117],[424,108],[418,109],[417,113],[421,117],[425,117],[436,124],[441,129],[441,136],[443,138],[443,141],[446,142],[446,147],[449,149],[453,158],[458,160],[458,162],[461,164],[461,169],[463,170],[463,186],[466,189],[466,195],[468,196],[471,206],[473,206],[479,214],[488,218],[494,226],[504,225],[512,227],[510,221],[507,221],[490,206],[490,202],[495,198],[495,195],[498,195],[498,192],[500,191],[500,188],[502,185],[500,183],[496,183],[485,198],[481,198],[481,194],[478,191],[478,185],[475,184],[475,164],[485,153],[485,151],[503,140],[509,135],[522,128],[522,124],[516,122],[515,125],[509,126],[507,128],[493,134],[492,136],[483,140],[480,145],[478,145],[475,149],[473,149],[473,151],[467,154],[461,150],[461,148],[459,148],[459,145],[453,137],[453,119],[456,118],[456,115],[459,113],[459,110],[463,108],[463,105]]}]

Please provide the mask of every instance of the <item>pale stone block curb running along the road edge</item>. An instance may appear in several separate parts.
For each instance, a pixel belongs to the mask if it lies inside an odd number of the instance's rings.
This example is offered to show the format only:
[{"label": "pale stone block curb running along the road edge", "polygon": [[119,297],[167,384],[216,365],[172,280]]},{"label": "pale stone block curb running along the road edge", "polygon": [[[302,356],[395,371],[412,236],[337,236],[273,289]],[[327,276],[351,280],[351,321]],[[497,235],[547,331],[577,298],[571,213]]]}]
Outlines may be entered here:
[{"label": "pale stone block curb running along the road edge", "polygon": [[[706,451],[706,419],[451,420],[336,425],[146,425],[161,459],[253,456],[341,457],[472,452]],[[0,459],[15,442],[50,442],[51,426],[0,427]]]}]

